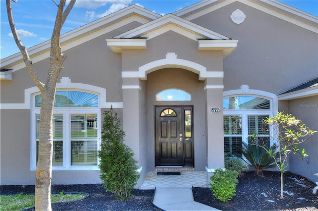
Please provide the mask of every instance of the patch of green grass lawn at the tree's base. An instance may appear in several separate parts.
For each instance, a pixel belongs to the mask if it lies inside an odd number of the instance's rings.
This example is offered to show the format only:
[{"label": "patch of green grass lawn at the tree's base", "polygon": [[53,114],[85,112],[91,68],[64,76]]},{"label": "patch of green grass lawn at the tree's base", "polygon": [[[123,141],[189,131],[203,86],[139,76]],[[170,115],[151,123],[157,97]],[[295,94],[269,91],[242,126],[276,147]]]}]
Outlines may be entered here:
[{"label": "patch of green grass lawn at the tree's base", "polygon": [[[87,197],[87,194],[52,194],[51,203],[68,202],[80,200]],[[33,194],[19,193],[16,195],[1,195],[0,196],[0,211],[21,211],[31,208],[35,205]]]}]

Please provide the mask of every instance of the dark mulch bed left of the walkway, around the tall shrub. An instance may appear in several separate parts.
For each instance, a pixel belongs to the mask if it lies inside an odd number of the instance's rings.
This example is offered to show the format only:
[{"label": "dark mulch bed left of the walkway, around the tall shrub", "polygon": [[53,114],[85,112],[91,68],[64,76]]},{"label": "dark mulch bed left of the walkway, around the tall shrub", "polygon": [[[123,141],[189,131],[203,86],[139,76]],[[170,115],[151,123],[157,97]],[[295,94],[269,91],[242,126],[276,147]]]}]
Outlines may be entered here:
[{"label": "dark mulch bed left of the walkway, around the tall shrub", "polygon": [[[0,186],[1,194],[13,193],[32,193],[34,194],[34,185],[26,186]],[[60,192],[84,192],[89,196],[85,199],[73,202],[53,203],[54,211],[160,211],[152,203],[151,199],[154,190],[133,190],[134,197],[128,201],[117,200],[114,194],[106,192],[100,184],[86,185],[52,185],[52,193]],[[34,211],[34,208],[28,209]]]}]

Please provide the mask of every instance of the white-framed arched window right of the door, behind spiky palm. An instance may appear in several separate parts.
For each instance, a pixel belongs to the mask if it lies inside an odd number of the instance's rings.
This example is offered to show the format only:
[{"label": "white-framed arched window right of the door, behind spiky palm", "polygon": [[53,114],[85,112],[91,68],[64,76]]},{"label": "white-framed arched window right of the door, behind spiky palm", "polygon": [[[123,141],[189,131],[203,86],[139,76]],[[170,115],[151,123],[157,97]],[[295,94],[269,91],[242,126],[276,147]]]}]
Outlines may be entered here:
[{"label": "white-framed arched window right of the door, behind spiky palm", "polygon": [[270,145],[269,127],[263,119],[272,113],[270,100],[254,96],[234,96],[223,100],[224,152],[241,157],[236,147],[248,143],[256,134],[257,141]]}]

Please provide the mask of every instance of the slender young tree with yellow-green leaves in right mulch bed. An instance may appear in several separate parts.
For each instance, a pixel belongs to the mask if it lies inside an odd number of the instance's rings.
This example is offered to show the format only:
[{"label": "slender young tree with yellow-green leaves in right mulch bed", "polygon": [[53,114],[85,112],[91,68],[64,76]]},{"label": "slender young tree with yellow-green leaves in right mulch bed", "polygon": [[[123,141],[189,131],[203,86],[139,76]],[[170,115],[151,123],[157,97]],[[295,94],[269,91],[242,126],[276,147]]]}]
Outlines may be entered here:
[{"label": "slender young tree with yellow-green leaves in right mulch bed", "polygon": [[309,140],[317,131],[306,127],[306,125],[303,124],[301,120],[296,119],[295,116],[283,114],[283,112],[278,112],[274,117],[266,118],[264,123],[272,126],[272,130],[270,130],[269,133],[271,138],[276,141],[274,145],[275,150],[265,146],[260,147],[262,147],[271,158],[276,158],[275,151],[278,151],[278,159],[274,160],[280,171],[280,199],[283,199],[283,173],[286,172],[288,166],[287,158],[289,158],[290,153],[298,154],[302,160],[304,157],[307,157],[308,155],[305,153],[305,149],[300,150],[298,146]]}]

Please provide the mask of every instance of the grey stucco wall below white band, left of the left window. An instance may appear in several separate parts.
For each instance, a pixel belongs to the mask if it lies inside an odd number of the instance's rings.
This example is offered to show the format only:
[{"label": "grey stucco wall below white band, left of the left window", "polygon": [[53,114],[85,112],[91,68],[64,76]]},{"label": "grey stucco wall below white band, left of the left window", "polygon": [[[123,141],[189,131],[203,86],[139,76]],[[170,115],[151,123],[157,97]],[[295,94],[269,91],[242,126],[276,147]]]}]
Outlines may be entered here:
[{"label": "grey stucco wall below white band, left of the left window", "polygon": [[30,110],[6,109],[1,112],[1,185],[31,185]]}]

